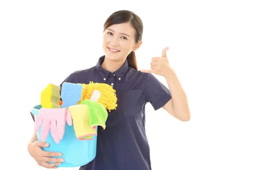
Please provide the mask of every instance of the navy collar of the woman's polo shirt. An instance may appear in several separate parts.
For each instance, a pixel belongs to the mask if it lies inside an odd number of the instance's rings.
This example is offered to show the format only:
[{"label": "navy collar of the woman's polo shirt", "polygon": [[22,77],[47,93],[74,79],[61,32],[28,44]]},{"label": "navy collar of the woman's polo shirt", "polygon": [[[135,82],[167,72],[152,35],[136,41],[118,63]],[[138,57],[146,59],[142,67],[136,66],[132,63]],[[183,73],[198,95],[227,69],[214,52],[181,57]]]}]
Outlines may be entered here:
[{"label": "navy collar of the woman's polo shirt", "polygon": [[96,65],[96,68],[99,72],[99,75],[102,77],[103,81],[106,82],[108,80],[108,76],[109,74],[114,74],[118,81],[121,82],[122,81],[122,78],[123,76],[125,75],[125,72],[127,71],[128,69],[128,62],[127,62],[127,59],[125,60],[125,63],[122,65],[121,68],[119,68],[117,71],[115,71],[114,73],[111,73],[107,70],[105,70],[103,67],[102,67],[102,63],[105,59],[105,55],[100,57],[98,62],[97,62],[97,65]]}]

